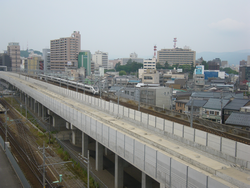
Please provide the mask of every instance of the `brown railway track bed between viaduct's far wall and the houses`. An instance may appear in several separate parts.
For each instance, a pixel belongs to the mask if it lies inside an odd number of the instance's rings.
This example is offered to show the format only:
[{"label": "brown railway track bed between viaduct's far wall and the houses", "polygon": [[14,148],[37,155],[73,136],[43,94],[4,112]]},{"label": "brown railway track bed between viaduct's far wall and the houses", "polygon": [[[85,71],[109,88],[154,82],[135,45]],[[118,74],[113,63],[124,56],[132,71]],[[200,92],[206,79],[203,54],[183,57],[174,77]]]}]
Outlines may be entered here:
[{"label": "brown railway track bed between viaduct's far wall and the houses", "polygon": [[[37,77],[33,77],[33,78],[37,79]],[[44,81],[44,80],[41,80],[41,81]],[[74,88],[74,87],[71,87],[69,85],[64,85],[62,83],[59,84],[59,83],[56,83],[56,82],[53,82],[53,81],[47,81],[47,83],[50,83],[50,84],[53,84],[53,85],[56,85],[56,86],[59,86],[59,87],[63,87],[63,88],[68,88],[68,89],[73,90],[73,91],[78,91],[80,93],[85,93],[86,95],[90,95],[92,97],[96,97],[96,98],[100,97],[99,95],[93,95],[91,93],[84,92],[80,88]],[[106,97],[106,96],[105,97],[102,96],[102,99],[106,100],[106,101],[113,101],[114,103],[117,103],[117,100],[114,100],[113,98],[109,98],[109,97]],[[123,106],[125,106],[127,108],[134,109],[134,110],[138,109],[137,105],[133,105],[133,104],[130,104],[130,103],[119,101],[119,104],[121,104],[121,105],[123,105]],[[180,124],[185,125],[185,126],[190,126],[189,121],[178,118],[178,117],[170,116],[170,115],[167,115],[167,114],[162,113],[162,112],[156,112],[154,110],[150,110],[150,109],[143,108],[143,107],[140,107],[140,111],[143,112],[143,113],[147,113],[147,114],[150,114],[150,115],[154,115],[156,117],[160,117],[160,118],[169,120],[169,121],[180,123]],[[212,122],[211,122],[211,124],[212,124]],[[210,126],[209,123],[208,123],[207,126],[205,126],[205,125],[193,122],[193,128],[198,129],[198,130],[202,130],[202,131],[205,131],[205,132],[208,132],[208,133],[211,133],[211,134],[215,134],[215,135],[218,135],[218,136],[221,136],[221,137],[224,137],[224,138],[235,140],[237,142],[241,142],[241,143],[250,145],[250,138],[235,135],[235,134],[232,134],[232,133],[220,130],[220,129],[216,129],[213,126]]]}]

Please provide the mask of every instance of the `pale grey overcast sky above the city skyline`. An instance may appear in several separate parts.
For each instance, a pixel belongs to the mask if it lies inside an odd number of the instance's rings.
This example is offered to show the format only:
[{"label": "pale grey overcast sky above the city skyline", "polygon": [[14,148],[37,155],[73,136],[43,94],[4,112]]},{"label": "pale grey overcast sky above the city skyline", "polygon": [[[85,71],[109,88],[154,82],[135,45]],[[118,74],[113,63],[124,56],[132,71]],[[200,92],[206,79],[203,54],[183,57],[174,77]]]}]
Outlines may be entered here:
[{"label": "pale grey overcast sky above the city skyline", "polygon": [[109,59],[152,57],[189,46],[196,52],[250,49],[250,0],[0,0],[0,51],[9,42],[42,51],[80,31],[82,50]]}]

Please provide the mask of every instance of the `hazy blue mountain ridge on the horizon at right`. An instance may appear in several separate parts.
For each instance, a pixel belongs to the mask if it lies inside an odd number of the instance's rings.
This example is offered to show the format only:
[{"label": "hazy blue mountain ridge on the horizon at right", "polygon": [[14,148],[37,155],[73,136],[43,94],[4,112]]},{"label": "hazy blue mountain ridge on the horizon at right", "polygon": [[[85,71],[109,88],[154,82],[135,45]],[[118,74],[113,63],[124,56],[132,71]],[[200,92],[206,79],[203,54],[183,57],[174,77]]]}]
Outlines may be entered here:
[{"label": "hazy blue mountain ridge on the horizon at right", "polygon": [[247,56],[250,56],[250,49],[240,50],[235,52],[200,52],[196,53],[196,59],[203,57],[205,61],[210,61],[215,58],[220,58],[221,61],[228,61],[229,65],[239,65],[240,61],[247,61]]}]

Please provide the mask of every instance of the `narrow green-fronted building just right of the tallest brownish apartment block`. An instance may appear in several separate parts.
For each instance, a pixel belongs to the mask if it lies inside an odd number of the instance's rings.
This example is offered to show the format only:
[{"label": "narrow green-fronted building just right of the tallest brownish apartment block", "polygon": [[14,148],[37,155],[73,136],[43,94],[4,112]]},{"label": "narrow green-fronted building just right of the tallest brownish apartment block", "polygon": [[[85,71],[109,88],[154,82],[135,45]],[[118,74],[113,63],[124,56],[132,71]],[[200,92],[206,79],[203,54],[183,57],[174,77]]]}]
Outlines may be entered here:
[{"label": "narrow green-fronted building just right of the tallest brownish apartment block", "polygon": [[85,68],[85,76],[91,75],[91,53],[89,50],[82,50],[78,55],[78,68]]}]

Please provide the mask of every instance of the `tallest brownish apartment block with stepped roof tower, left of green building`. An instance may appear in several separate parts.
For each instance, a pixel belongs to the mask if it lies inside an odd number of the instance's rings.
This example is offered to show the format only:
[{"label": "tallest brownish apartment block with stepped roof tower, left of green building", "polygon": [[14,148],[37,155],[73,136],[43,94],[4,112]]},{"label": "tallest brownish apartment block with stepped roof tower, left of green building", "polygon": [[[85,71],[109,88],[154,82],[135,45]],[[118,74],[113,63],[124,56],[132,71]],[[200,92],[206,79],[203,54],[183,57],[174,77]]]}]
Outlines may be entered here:
[{"label": "tallest brownish apartment block with stepped roof tower, left of green building", "polygon": [[74,31],[71,37],[50,41],[50,69],[64,71],[67,66],[77,67],[81,50],[81,34]]}]

